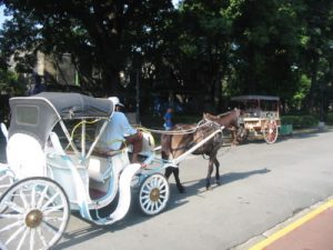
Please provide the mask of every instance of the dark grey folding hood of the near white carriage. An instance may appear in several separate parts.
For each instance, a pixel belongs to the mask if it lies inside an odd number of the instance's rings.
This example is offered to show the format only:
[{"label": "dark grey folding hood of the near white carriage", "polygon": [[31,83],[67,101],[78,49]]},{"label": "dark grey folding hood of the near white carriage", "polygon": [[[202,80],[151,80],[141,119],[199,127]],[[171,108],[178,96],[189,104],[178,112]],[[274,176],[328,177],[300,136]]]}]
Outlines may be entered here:
[{"label": "dark grey folding hood of the near white carriage", "polygon": [[42,92],[9,100],[11,120],[9,138],[17,132],[34,137],[43,147],[56,123],[63,119],[110,118],[113,104],[80,93]]}]

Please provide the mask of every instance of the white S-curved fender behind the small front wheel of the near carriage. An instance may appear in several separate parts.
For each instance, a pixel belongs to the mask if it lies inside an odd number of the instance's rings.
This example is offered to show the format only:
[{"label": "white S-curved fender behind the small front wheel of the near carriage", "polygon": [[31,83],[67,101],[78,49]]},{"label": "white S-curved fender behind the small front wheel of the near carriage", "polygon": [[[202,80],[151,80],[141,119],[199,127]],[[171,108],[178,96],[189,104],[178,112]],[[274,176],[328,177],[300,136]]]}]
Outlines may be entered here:
[{"label": "white S-curved fender behind the small front wheel of the near carriage", "polygon": [[119,201],[115,210],[110,214],[105,224],[111,224],[122,219],[131,204],[131,181],[133,176],[141,169],[140,163],[132,163],[124,168],[119,179]]}]

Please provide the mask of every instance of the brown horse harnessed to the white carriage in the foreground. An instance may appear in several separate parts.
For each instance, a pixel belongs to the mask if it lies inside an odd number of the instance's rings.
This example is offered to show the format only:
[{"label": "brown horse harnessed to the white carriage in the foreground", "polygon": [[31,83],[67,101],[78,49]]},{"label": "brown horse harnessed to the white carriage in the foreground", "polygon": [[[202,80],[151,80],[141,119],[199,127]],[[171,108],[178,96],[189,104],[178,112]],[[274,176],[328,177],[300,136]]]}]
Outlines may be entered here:
[{"label": "brown horse harnessed to the white carriage in the foreground", "polygon": [[[162,159],[175,159],[186,152],[193,146],[201,142],[204,138],[212,134],[214,131],[221,130],[222,126],[226,127],[234,124],[238,120],[239,113],[239,110],[234,110],[214,121],[208,120],[206,116],[204,116],[204,123],[201,124],[176,124],[170,132],[164,133],[161,137]],[[192,130],[192,132],[182,133],[182,131],[190,130]],[[206,189],[209,189],[211,186],[211,174],[214,166],[215,181],[216,184],[220,184],[220,162],[216,158],[216,154],[222,144],[223,134],[221,132],[216,133],[212,139],[192,152],[193,154],[203,154],[209,157],[209,168],[205,179]],[[174,176],[178,190],[180,192],[184,192],[184,187],[181,184],[179,179],[179,168],[168,167],[165,169],[165,177],[169,179],[171,173]]]}]

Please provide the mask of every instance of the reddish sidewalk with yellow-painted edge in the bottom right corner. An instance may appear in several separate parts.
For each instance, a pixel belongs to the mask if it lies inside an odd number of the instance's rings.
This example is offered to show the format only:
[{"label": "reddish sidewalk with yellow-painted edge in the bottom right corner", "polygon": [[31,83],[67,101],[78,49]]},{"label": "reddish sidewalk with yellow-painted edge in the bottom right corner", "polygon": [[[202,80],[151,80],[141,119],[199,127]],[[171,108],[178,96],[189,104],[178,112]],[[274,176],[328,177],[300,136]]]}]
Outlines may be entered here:
[{"label": "reddish sidewalk with yellow-painted edge in the bottom right corner", "polygon": [[249,250],[333,250],[333,199],[280,226]]}]

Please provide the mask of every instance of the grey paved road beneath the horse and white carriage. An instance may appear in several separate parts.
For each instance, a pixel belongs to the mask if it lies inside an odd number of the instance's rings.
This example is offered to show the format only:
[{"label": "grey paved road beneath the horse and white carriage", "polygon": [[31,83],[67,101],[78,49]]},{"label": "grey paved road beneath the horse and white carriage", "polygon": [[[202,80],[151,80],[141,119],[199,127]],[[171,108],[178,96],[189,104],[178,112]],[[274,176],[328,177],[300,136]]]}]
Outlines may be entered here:
[{"label": "grey paved road beneath the horse and white carriage", "polygon": [[204,189],[206,161],[181,163],[185,194],[171,179],[167,211],[148,218],[133,206],[122,221],[97,227],[71,216],[56,247],[71,250],[228,250],[333,194],[333,132],[262,141],[219,153],[223,184]]}]

